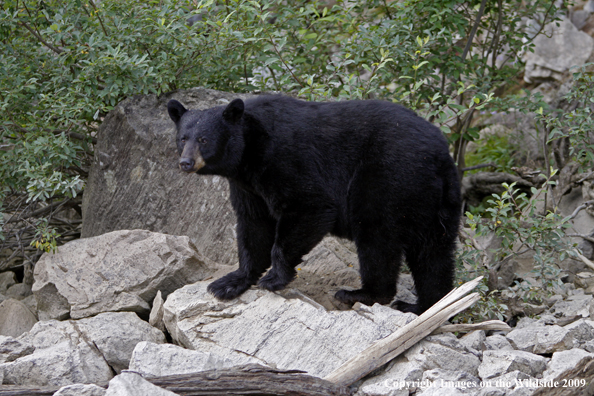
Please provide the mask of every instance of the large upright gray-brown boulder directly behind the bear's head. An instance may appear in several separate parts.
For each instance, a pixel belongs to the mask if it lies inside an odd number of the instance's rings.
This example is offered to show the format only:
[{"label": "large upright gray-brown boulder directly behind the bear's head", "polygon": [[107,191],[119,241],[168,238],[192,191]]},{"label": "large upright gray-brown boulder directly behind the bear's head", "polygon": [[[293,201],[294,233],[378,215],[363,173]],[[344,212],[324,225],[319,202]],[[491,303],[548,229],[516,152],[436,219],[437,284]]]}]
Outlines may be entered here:
[{"label": "large upright gray-brown boulder directly behind the bear's head", "polygon": [[187,108],[207,109],[250,96],[196,88],[134,96],[116,106],[97,134],[83,196],[82,237],[123,229],[187,235],[209,259],[235,263],[228,183],[179,170],[167,102],[177,99]]}]

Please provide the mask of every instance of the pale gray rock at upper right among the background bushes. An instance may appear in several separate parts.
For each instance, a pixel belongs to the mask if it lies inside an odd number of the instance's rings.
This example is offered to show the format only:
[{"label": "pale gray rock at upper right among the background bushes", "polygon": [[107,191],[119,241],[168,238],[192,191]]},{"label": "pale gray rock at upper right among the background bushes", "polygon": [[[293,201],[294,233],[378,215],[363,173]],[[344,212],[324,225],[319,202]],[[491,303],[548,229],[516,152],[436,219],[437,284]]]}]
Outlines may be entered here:
[{"label": "pale gray rock at upper right among the background bushes", "polygon": [[580,32],[564,19],[557,27],[556,22],[545,26],[544,34],[534,39],[534,52],[524,55],[526,69],[524,80],[562,78],[562,73],[572,66],[582,66],[592,53],[594,40],[588,34]]}]

